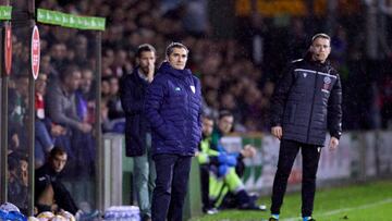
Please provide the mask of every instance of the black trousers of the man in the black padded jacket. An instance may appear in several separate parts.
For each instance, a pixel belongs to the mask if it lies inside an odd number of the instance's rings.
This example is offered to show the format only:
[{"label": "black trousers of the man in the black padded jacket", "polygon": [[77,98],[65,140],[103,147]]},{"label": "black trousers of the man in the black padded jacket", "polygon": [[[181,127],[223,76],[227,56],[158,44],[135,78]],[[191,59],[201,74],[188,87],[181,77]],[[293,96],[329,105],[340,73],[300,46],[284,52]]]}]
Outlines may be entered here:
[{"label": "black trousers of the man in the black padded jacket", "polygon": [[283,204],[283,197],[287,186],[287,179],[299,148],[303,156],[302,214],[303,217],[311,216],[320,149],[315,145],[306,145],[285,139],[281,140],[279,150],[278,171],[274,176],[272,188],[271,213],[280,213],[280,208]]}]

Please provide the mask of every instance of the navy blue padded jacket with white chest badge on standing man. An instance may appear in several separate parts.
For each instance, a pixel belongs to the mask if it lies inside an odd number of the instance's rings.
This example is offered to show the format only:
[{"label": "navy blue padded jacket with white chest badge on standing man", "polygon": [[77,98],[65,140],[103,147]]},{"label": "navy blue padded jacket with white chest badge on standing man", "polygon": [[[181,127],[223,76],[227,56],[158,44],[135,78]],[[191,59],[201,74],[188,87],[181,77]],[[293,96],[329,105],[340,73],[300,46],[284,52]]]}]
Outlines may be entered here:
[{"label": "navy blue padded jacket with white chest badge on standing man", "polygon": [[188,69],[163,62],[146,94],[152,155],[194,156],[201,139],[200,82]]}]

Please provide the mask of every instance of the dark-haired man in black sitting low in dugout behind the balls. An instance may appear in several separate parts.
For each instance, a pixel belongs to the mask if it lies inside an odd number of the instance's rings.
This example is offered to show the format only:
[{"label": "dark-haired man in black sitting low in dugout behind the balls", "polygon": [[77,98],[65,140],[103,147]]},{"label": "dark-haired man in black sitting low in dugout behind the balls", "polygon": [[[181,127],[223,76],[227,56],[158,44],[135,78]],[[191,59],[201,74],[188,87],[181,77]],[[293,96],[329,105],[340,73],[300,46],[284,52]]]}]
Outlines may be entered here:
[{"label": "dark-haired man in black sitting low in dugout behind the balls", "polygon": [[53,147],[48,161],[35,172],[35,206],[42,211],[65,210],[73,214],[78,210],[70,192],[61,183],[61,172],[68,155],[61,147]]}]

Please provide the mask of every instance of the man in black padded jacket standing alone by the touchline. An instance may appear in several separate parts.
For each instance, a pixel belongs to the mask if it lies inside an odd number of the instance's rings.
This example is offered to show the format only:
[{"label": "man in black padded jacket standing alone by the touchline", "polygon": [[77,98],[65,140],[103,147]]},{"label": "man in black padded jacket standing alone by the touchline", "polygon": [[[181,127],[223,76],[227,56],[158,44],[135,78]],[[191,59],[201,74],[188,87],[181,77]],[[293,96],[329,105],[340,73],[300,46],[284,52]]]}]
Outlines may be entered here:
[{"label": "man in black padded jacket standing alone by the touchline", "polygon": [[303,156],[302,216],[311,218],[316,173],[329,131],[329,148],[336,149],[342,133],[342,88],[338,72],[327,60],[330,37],[317,34],[305,59],[294,61],[272,96],[271,133],[281,139],[273,181],[270,221],[279,220],[287,179],[301,148]]}]

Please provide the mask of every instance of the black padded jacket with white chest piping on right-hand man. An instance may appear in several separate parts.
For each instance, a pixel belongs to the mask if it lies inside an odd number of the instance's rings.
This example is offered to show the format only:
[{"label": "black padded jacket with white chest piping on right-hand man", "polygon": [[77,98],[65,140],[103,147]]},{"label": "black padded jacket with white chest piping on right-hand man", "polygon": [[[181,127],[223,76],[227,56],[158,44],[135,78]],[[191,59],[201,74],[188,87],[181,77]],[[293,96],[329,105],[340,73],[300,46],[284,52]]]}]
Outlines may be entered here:
[{"label": "black padded jacket with white chest piping on right-hand man", "polygon": [[342,134],[342,86],[327,61],[308,54],[291,63],[272,96],[271,126],[281,125],[283,139],[323,146],[326,133]]}]

